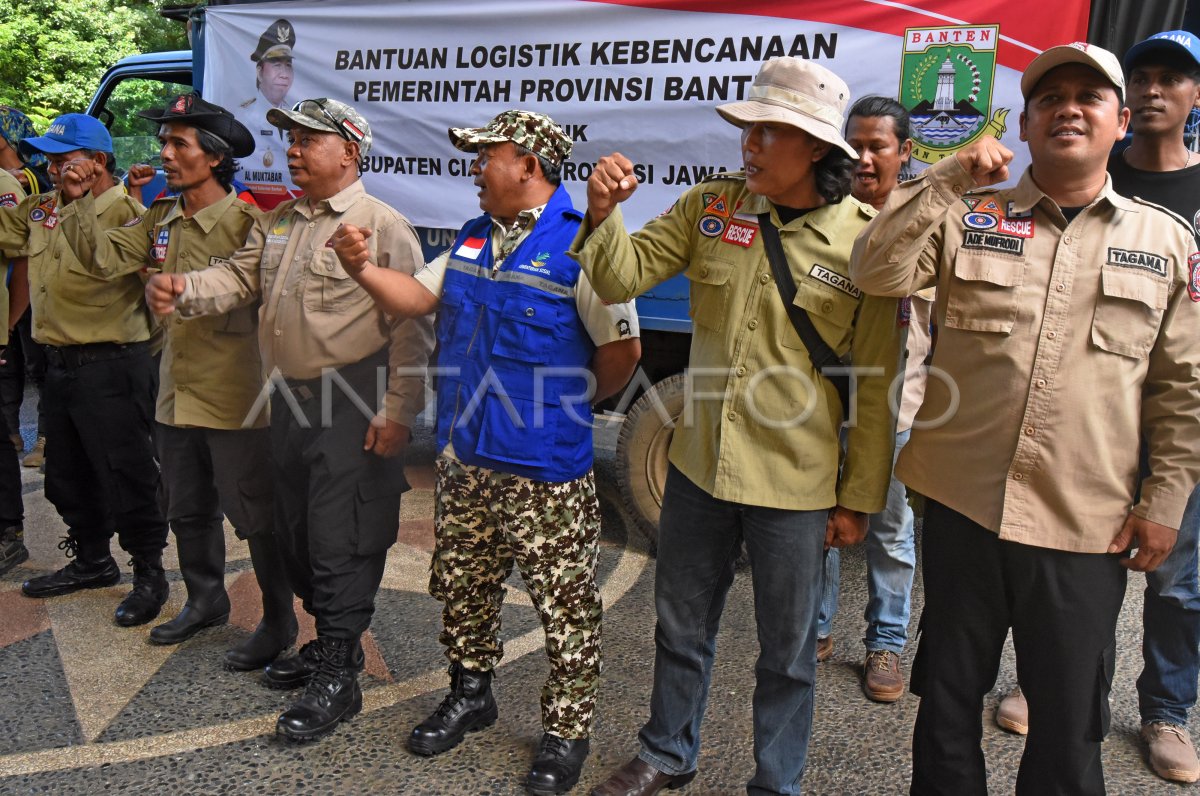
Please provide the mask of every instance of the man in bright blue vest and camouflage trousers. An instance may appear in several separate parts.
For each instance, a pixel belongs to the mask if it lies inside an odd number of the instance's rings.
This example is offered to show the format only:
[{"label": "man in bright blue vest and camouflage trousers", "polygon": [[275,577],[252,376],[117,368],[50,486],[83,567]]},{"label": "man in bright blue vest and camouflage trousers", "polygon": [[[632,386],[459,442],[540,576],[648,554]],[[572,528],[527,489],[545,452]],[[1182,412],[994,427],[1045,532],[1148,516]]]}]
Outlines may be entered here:
[{"label": "man in bright blue vest and camouflage trousers", "polygon": [[545,735],[526,786],[580,778],[600,676],[595,583],[600,514],[590,403],[641,357],[632,304],[605,305],[566,257],[581,214],[560,185],[571,140],[548,116],[508,110],[451,128],[475,152],[484,215],[415,276],[368,262],[371,232],[344,226],[334,250],[388,313],[440,309],[438,508],[430,592],[443,603],[451,692],[409,736],[434,755],[496,722],[504,580],[516,561],[546,630]]}]

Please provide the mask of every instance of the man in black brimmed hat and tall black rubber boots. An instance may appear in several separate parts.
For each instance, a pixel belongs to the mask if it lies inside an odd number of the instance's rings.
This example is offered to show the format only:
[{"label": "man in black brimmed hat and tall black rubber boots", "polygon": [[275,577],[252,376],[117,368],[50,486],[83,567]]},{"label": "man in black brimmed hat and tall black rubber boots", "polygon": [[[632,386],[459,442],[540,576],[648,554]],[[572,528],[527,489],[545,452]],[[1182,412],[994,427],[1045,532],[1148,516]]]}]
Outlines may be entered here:
[{"label": "man in black brimmed hat and tall black rubber boots", "polygon": [[[232,190],[235,157],[254,149],[250,132],[196,94],[138,113],[158,122],[162,168],[174,196],[137,221],[104,231],[91,188],[98,174],[71,163],[62,192],[71,205],[62,232],[91,271],[116,277],[146,270],[184,274],[227,261],[260,215]],[[229,617],[224,587],[228,516],[250,546],[263,594],[263,621],[226,654],[230,669],[260,669],[295,640],[292,589],[275,545],[270,435],[254,406],[263,389],[254,309],[166,324],[155,441],[163,466],[167,520],[175,534],[187,603],[150,632],[179,644]]]}]

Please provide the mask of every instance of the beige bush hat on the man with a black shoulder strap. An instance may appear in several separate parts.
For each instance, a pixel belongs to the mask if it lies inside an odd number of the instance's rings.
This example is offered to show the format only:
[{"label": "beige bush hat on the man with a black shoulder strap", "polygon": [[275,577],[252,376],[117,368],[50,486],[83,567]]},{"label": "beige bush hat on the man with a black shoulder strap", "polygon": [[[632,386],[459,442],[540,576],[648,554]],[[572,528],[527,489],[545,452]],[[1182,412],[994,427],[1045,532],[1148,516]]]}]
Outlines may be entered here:
[{"label": "beige bush hat on the man with a black shoulder strap", "polygon": [[823,66],[799,58],[773,58],[762,65],[743,102],[716,106],[731,125],[778,121],[836,145],[851,157],[858,152],[841,137],[850,86]]}]

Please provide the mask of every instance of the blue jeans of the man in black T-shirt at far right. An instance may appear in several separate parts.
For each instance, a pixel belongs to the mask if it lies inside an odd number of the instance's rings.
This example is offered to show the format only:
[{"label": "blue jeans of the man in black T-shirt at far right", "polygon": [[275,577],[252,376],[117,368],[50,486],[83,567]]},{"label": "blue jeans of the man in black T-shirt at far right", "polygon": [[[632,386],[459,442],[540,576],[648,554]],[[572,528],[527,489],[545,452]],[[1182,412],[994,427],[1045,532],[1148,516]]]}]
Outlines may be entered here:
[{"label": "blue jeans of the man in black T-shirt at far right", "polygon": [[1142,608],[1138,707],[1142,724],[1170,722],[1187,726],[1188,708],[1196,704],[1200,676],[1200,486],[1188,498],[1175,549],[1146,574]]}]

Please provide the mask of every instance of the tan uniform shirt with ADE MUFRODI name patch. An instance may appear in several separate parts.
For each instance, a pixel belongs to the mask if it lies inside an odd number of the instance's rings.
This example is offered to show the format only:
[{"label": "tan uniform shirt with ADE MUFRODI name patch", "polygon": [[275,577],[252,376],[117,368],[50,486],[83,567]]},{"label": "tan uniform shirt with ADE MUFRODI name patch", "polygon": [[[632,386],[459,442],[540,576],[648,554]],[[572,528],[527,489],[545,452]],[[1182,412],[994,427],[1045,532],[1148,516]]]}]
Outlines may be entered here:
[{"label": "tan uniform shirt with ADE MUFRODI name patch", "polygon": [[[1109,181],[1069,223],[1028,172],[971,184],[947,157],[854,244],[865,291],[937,285],[935,372],[896,475],[1039,547],[1105,552],[1130,508],[1178,527],[1200,478],[1190,231]],[[1144,429],[1153,474],[1133,505]]]}]

